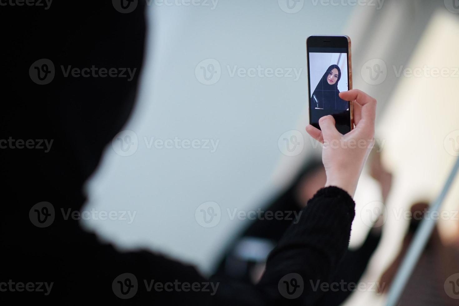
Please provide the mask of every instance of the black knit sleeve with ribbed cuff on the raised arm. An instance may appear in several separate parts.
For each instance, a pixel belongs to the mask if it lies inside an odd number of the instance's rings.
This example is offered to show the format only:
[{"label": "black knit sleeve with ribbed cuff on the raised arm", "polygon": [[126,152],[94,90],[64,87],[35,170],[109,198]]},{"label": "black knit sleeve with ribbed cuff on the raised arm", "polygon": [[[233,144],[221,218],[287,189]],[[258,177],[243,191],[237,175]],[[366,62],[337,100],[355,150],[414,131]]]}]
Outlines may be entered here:
[{"label": "black knit sleeve with ribbed cuff on the raised arm", "polygon": [[[344,256],[354,216],[353,199],[338,187],[320,189],[308,201],[270,253],[257,285],[269,305],[313,305],[325,293],[319,284],[330,282]],[[302,294],[295,297],[297,290]]]}]

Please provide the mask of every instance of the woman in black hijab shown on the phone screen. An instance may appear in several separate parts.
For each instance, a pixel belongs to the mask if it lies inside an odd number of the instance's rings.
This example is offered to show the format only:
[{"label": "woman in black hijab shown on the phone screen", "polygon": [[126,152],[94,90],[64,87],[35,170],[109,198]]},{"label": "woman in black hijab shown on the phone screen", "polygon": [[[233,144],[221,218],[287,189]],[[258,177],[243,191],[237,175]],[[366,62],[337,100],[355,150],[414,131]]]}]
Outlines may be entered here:
[{"label": "woman in black hijab shown on the phone screen", "polygon": [[312,108],[325,110],[342,110],[349,108],[347,101],[339,97],[338,82],[341,79],[341,69],[331,65],[320,79],[311,97]]}]

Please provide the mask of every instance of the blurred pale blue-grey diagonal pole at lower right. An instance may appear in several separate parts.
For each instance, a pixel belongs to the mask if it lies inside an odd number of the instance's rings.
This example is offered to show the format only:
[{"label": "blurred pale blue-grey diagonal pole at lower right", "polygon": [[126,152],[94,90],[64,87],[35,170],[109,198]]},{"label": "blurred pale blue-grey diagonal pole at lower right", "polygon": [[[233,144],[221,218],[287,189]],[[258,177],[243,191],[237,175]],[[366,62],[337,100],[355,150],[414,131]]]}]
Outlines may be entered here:
[{"label": "blurred pale blue-grey diagonal pole at lower right", "polygon": [[[453,169],[449,173],[448,179],[443,186],[442,192],[438,195],[437,200],[434,204],[429,208],[431,212],[440,211],[442,206],[442,202],[445,199],[445,196],[448,193],[451,184],[453,184],[454,177],[459,169],[459,156],[456,159],[456,163],[454,164]],[[409,246],[408,252],[403,258],[402,265],[400,269],[398,269],[397,274],[395,275],[394,282],[392,283],[391,289],[389,290],[389,295],[387,298],[387,306],[395,306],[400,299],[400,295],[402,294],[403,289],[408,281],[408,278],[411,276],[413,272],[414,266],[419,260],[419,257],[424,250],[425,244],[427,240],[429,240],[432,230],[437,223],[436,220],[432,219],[424,219],[422,220],[416,234],[414,235],[413,242]]]}]

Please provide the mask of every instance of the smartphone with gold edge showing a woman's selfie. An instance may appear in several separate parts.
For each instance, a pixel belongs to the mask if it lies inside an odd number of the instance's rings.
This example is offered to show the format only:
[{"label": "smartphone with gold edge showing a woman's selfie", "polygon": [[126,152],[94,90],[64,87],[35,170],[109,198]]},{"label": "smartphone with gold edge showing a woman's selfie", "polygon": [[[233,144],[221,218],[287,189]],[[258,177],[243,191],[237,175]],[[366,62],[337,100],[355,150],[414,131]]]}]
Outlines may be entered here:
[{"label": "smartphone with gold edge showing a woman's selfie", "polygon": [[352,89],[351,39],[346,35],[312,35],[306,39],[308,62],[309,123],[319,128],[319,119],[335,118],[336,129],[353,129],[353,103],[339,97]]}]

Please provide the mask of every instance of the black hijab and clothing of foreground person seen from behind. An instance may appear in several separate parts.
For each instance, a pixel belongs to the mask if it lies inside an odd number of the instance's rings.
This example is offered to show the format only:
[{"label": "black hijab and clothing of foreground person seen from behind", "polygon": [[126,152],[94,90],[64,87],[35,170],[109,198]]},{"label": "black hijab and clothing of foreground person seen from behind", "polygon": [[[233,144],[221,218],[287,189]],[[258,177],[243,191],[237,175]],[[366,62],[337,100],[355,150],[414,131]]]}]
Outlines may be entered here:
[{"label": "black hijab and clothing of foreground person seen from behind", "polygon": [[[82,213],[94,207],[87,180],[125,126],[140,82],[140,73],[129,82],[112,77],[112,68],[143,67],[150,27],[146,1],[54,2],[49,10],[0,10],[0,28],[9,29],[2,33],[8,48],[0,49],[8,59],[0,73],[2,305],[324,305],[315,303],[324,292],[307,280],[334,275],[355,216],[351,195],[335,186],[321,188],[284,231],[256,285],[205,278],[150,250],[121,250],[82,226]],[[62,65],[105,68],[111,77],[66,76]]]}]

